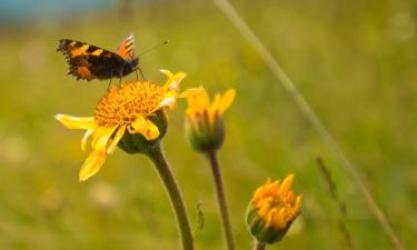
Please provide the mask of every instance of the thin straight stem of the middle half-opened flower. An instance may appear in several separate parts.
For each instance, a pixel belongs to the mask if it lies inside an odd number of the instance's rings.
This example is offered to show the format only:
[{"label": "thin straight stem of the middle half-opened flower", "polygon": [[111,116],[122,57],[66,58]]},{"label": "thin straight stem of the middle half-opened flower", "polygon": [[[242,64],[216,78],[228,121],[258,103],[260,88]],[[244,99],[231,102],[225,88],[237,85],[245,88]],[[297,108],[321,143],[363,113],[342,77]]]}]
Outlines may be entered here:
[{"label": "thin straight stem of the middle half-opened flower", "polygon": [[228,250],[234,250],[235,244],[234,244],[234,238],[231,234],[231,227],[230,227],[230,219],[229,219],[229,212],[227,209],[227,203],[226,203],[226,196],[225,196],[225,190],[221,181],[221,172],[219,169],[219,163],[217,161],[217,153],[216,150],[208,150],[207,154],[210,160],[211,164],[211,172],[212,177],[215,180],[215,186],[216,186],[216,193],[217,193],[217,201],[219,203],[219,210],[221,214],[221,222],[224,226],[224,232],[226,237],[226,242],[227,242],[227,248]]}]

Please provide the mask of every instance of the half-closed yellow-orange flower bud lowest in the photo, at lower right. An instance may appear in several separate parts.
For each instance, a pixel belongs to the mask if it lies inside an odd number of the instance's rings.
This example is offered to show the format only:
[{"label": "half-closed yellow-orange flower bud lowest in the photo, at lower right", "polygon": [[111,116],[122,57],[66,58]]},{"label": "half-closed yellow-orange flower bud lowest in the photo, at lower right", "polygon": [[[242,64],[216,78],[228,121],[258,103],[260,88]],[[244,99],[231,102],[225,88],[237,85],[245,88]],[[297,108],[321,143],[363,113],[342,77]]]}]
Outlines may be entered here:
[{"label": "half-closed yellow-orange flower bud lowest in the photo, at lower right", "polygon": [[261,243],[282,239],[292,221],[301,213],[302,196],[295,199],[291,188],[294,174],[280,184],[270,179],[258,188],[249,203],[247,224],[250,233]]}]

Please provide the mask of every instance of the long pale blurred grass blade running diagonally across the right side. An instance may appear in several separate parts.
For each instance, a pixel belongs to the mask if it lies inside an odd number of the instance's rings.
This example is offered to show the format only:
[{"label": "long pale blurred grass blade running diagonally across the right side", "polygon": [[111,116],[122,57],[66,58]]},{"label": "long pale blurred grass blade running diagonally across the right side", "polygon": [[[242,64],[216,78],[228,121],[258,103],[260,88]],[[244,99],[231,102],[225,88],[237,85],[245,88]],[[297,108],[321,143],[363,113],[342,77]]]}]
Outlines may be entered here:
[{"label": "long pale blurred grass blade running diagonally across the right side", "polygon": [[308,104],[306,99],[300,94],[297,90],[295,84],[292,83],[291,79],[287,76],[287,73],[282,70],[282,68],[278,64],[265,44],[259,40],[259,38],[255,34],[255,32],[249,28],[249,26],[245,22],[245,20],[236,12],[235,8],[227,1],[227,0],[214,0],[220,11],[230,20],[230,22],[239,30],[239,32],[251,43],[254,49],[259,53],[269,69],[272,71],[274,76],[277,80],[282,84],[282,87],[288,91],[288,93],[292,97],[297,106],[299,107],[302,114],[311,122],[311,126],[317,130],[320,137],[325,140],[328,144],[332,153],[339,160],[341,166],[350,173],[351,178],[359,187],[359,190],[364,194],[368,207],[381,224],[383,229],[386,233],[390,237],[393,244],[398,250],[404,250],[401,242],[399,241],[396,232],[389,224],[387,217],[384,214],[383,210],[376,203],[373,194],[368,190],[367,186],[364,183],[359,172],[356,170],[354,164],[347,159],[345,153],[341,151],[340,147],[336,142],[336,140],[331,137],[331,134],[327,131],[325,126],[321,123],[320,119],[317,117],[315,111]]}]

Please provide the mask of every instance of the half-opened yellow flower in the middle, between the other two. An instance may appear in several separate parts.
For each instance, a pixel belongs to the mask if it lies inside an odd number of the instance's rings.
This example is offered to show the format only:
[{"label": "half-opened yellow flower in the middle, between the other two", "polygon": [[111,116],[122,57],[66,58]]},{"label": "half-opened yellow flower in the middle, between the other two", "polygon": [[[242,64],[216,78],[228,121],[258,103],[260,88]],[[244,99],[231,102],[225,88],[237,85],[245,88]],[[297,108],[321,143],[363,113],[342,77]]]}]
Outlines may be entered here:
[{"label": "half-opened yellow flower in the middle, between the other two", "polygon": [[217,93],[212,103],[203,88],[189,89],[187,97],[186,128],[188,138],[198,151],[216,150],[225,139],[222,116],[234,103],[236,91],[229,89],[225,94]]}]

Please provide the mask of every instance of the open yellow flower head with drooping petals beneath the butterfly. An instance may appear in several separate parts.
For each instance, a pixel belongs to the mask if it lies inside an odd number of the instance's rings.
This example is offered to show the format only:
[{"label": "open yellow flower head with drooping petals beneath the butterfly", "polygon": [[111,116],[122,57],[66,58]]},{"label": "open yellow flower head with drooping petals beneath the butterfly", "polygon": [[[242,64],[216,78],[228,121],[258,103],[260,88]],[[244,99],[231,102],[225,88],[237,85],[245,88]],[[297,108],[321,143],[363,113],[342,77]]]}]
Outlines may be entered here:
[{"label": "open yellow flower head with drooping petals beneath the butterfly", "polygon": [[158,121],[166,122],[165,110],[177,107],[179,83],[187,76],[183,72],[172,74],[168,70],[161,72],[168,78],[163,86],[147,80],[112,86],[97,104],[93,117],[54,117],[68,129],[86,130],[81,140],[82,151],[87,150],[88,139],[92,137],[92,152],[80,169],[80,181],[97,173],[106,157],[120,146],[119,142],[126,142],[123,149],[128,147],[129,140],[125,137],[140,137],[146,141],[161,139],[167,126]]}]

